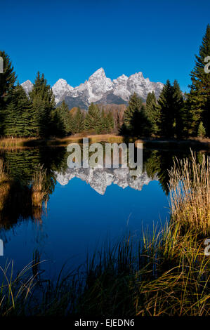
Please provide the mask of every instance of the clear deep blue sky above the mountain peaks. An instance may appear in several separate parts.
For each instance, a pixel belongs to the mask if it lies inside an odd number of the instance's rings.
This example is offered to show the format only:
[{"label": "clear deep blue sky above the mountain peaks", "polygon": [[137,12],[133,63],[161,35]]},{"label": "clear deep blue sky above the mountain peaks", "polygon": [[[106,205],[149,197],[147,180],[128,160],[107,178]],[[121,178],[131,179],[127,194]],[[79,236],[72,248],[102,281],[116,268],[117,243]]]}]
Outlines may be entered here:
[{"label": "clear deep blue sky above the mountain peaks", "polygon": [[111,79],[141,71],[187,91],[209,10],[206,0],[1,1],[0,49],[20,83],[39,70],[51,85],[78,86],[103,67]]}]

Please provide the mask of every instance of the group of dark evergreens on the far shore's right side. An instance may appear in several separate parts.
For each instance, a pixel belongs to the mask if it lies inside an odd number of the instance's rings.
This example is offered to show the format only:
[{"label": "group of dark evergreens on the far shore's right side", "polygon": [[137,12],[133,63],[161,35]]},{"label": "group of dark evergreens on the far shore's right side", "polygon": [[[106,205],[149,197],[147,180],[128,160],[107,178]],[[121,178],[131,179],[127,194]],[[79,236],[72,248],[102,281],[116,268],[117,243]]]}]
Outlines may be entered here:
[{"label": "group of dark evergreens on the far shore's right side", "polygon": [[190,93],[183,94],[178,81],[166,81],[159,98],[148,93],[146,104],[131,95],[124,112],[120,132],[127,136],[163,138],[210,137],[210,74],[206,73],[206,57],[210,55],[210,26],[196,55],[190,77]]}]

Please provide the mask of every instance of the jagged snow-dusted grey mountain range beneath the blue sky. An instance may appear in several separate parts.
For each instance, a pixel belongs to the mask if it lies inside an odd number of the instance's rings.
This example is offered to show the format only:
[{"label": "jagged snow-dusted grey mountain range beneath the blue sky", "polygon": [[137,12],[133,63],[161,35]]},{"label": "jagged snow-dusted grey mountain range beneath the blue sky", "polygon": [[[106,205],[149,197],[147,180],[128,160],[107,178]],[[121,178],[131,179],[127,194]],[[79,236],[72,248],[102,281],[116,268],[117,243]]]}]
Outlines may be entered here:
[{"label": "jagged snow-dusted grey mountain range beneath the blue sky", "polygon": [[[64,79],[59,79],[53,85],[55,102],[59,105],[63,100],[71,109],[81,107],[87,109],[93,103],[101,104],[127,104],[129,97],[136,92],[143,100],[146,100],[147,93],[154,91],[157,98],[162,91],[164,84],[152,82],[144,78],[142,72],[126,77],[124,74],[117,79],[111,80],[105,75],[103,68],[94,72],[84,84],[72,87]],[[32,88],[30,81],[22,84],[25,91]]]}]

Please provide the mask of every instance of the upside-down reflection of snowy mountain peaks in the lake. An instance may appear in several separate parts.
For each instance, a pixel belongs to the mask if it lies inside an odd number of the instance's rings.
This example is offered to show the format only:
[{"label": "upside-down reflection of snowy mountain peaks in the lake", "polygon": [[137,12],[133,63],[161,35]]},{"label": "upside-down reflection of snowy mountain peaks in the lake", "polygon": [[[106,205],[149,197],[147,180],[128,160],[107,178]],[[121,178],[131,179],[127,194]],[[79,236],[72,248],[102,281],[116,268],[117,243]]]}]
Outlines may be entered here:
[{"label": "upside-down reflection of snowy mountain peaks in the lake", "polygon": [[98,194],[105,194],[108,185],[118,185],[123,189],[131,187],[135,190],[142,190],[143,185],[148,185],[151,180],[157,180],[157,176],[153,179],[147,176],[146,172],[138,176],[130,176],[130,169],[67,169],[64,174],[55,172],[56,179],[60,185],[67,185],[72,178],[79,178],[86,181]]}]

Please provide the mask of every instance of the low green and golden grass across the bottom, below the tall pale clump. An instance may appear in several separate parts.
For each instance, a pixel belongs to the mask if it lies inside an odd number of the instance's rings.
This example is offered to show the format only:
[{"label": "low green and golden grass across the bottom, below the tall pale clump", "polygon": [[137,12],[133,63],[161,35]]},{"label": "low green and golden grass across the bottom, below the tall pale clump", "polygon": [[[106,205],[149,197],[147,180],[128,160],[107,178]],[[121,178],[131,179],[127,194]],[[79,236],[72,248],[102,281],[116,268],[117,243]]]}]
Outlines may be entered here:
[{"label": "low green and golden grass across the bottom, below the tall pale clump", "polygon": [[[57,282],[34,274],[4,280],[0,315],[109,317],[209,315],[209,257],[197,236],[165,225],[136,241],[127,235],[88,258],[83,272]],[[24,306],[24,308],[23,308]]]}]

